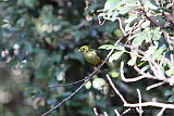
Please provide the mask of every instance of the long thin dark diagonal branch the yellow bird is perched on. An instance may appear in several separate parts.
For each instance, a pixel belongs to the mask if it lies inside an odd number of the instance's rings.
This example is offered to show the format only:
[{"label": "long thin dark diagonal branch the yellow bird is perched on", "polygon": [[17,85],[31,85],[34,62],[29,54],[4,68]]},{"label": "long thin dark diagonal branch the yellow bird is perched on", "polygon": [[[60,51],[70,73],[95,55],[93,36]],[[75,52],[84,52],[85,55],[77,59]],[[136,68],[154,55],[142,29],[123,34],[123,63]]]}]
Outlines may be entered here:
[{"label": "long thin dark diagonal branch the yellow bird is perched on", "polygon": [[48,112],[41,114],[41,116],[46,116],[46,115],[50,114],[55,108],[58,108],[60,105],[62,105],[64,102],[66,102],[67,100],[70,100],[72,96],[74,96],[92,78],[92,76],[96,75],[99,72],[99,69],[104,65],[104,63],[109,60],[109,57],[112,55],[113,52],[114,52],[114,49],[112,49],[110,51],[110,53],[107,55],[104,62],[102,62],[102,64],[98,66],[98,69],[94,70],[87,78],[85,78],[85,82],[82,83],[73,93],[71,93],[67,98],[65,98],[62,102],[60,102],[59,104],[57,104],[55,106],[53,106]]}]

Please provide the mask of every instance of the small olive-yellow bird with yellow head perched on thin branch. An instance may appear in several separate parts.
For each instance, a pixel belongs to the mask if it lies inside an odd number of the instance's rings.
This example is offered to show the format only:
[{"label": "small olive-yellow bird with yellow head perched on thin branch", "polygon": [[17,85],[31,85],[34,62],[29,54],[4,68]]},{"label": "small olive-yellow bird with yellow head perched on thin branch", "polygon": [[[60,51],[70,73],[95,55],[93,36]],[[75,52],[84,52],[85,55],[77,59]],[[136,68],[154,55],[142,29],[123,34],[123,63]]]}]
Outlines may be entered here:
[{"label": "small olive-yellow bird with yellow head perched on thin branch", "polygon": [[[91,49],[88,46],[80,47],[78,52],[83,53],[84,59],[87,63],[96,67],[103,63],[103,57],[101,56],[101,54],[97,50]],[[103,66],[101,67],[101,70],[104,69],[109,69],[108,64],[103,64]]]}]

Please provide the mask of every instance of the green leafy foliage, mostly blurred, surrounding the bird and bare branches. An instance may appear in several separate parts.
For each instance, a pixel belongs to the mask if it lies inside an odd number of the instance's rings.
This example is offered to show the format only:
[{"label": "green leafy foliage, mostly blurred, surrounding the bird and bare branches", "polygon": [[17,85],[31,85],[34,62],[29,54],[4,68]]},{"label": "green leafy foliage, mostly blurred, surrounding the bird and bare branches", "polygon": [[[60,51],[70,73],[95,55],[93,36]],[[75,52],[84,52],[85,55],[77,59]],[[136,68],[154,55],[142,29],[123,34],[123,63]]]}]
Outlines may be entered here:
[{"label": "green leafy foliage, mostly blurred, surrounding the bird and bare branches", "polygon": [[[120,76],[122,61],[125,62],[127,78],[139,75],[133,66],[152,74],[145,56],[139,57],[138,49],[158,64],[163,56],[172,61],[172,0],[1,0],[0,114],[40,115],[70,95],[80,83],[51,89],[48,86],[77,81],[94,70],[77,51],[83,44],[94,49],[100,47],[104,56],[109,50],[116,49],[109,60],[109,74],[128,102],[138,101],[135,93],[139,88],[142,101],[173,103],[173,82],[147,91],[146,87],[159,80],[147,78],[126,83]],[[142,16],[140,10],[154,18]],[[136,49],[126,48],[126,43]],[[162,62],[160,68],[166,78],[174,76],[173,64]],[[125,109],[102,73],[95,75],[73,99],[51,115],[94,116],[94,107],[109,116],[115,115],[114,108]],[[147,116],[156,116],[159,109],[146,108]],[[172,113],[170,109],[165,115]],[[127,115],[138,114],[133,109]]]}]

